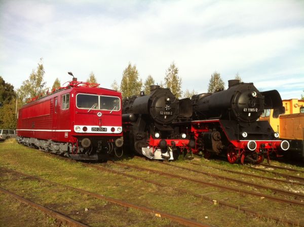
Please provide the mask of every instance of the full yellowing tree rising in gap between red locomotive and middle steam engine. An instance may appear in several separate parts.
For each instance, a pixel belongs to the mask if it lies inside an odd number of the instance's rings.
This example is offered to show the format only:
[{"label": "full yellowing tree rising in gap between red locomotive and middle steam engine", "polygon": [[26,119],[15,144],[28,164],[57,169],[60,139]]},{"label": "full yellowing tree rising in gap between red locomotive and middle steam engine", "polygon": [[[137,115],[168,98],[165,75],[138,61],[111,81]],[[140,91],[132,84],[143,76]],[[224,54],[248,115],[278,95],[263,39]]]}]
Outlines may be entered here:
[{"label": "full yellowing tree rising in gap between red locomotive and middle steam engine", "polygon": [[128,66],[123,71],[123,79],[121,82],[121,92],[123,97],[130,97],[132,95],[139,95],[142,87],[142,81],[139,79],[139,73],[136,69],[136,65]]}]

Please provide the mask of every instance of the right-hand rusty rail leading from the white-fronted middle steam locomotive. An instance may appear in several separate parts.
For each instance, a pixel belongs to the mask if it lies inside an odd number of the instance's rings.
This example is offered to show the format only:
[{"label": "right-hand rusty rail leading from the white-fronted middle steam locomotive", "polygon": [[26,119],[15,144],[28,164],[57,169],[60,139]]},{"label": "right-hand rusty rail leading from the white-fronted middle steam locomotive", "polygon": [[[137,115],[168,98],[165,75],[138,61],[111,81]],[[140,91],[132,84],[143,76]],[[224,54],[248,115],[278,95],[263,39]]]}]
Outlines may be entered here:
[{"label": "right-hand rusty rail leading from the white-fronted middle steam locomotive", "polygon": [[237,182],[237,183],[242,183],[242,184],[246,184],[246,185],[250,185],[250,186],[255,186],[257,188],[271,190],[273,192],[276,192],[278,194],[285,195],[285,196],[292,196],[292,197],[295,197],[295,198],[304,199],[303,194],[288,192],[286,190],[281,190],[280,188],[268,187],[268,186],[264,186],[264,185],[260,185],[260,184],[256,184],[256,183],[250,183],[250,182],[247,182],[247,181],[244,181],[244,180],[239,180],[239,179],[226,177],[226,176],[220,176],[218,174],[209,173],[209,172],[205,172],[205,171],[201,171],[201,170],[195,170],[195,169],[191,169],[191,168],[187,168],[187,167],[177,166],[177,165],[167,163],[167,162],[157,162],[157,163],[161,163],[163,165],[173,166],[173,167],[176,167],[176,168],[180,168],[180,169],[184,169],[184,170],[188,170],[188,171],[192,171],[192,172],[196,172],[196,173],[202,173],[204,175],[208,175],[208,176],[211,176],[211,177],[214,177],[214,178],[230,180],[230,181],[234,181],[234,182]]}]

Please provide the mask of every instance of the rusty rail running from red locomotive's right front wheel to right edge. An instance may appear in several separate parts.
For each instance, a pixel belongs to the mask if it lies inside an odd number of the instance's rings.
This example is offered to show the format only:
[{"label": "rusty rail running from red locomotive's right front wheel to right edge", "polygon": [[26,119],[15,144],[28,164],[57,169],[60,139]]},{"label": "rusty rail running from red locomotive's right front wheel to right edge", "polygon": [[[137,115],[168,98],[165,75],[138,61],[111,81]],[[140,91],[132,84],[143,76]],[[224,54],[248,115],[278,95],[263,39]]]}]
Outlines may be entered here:
[{"label": "rusty rail running from red locomotive's right front wheel to right edge", "polygon": [[241,190],[239,188],[234,188],[234,187],[230,187],[230,186],[223,186],[223,185],[220,185],[220,184],[210,183],[210,182],[207,182],[207,181],[198,180],[198,179],[194,179],[194,178],[190,178],[190,177],[180,176],[180,175],[176,175],[176,174],[172,174],[172,173],[166,173],[166,172],[163,172],[163,171],[160,171],[160,170],[154,170],[154,169],[149,169],[149,168],[145,168],[145,167],[139,167],[139,166],[125,164],[125,163],[119,163],[119,162],[112,162],[112,163],[116,164],[116,165],[120,165],[120,166],[131,167],[131,168],[134,168],[134,169],[150,171],[150,172],[154,172],[154,173],[157,173],[157,174],[160,174],[160,175],[167,175],[167,176],[170,176],[170,177],[185,179],[185,180],[188,180],[188,181],[192,181],[192,182],[196,182],[196,183],[201,183],[201,184],[212,186],[212,187],[222,188],[224,190],[229,190],[229,191],[233,191],[233,192],[239,192],[239,193],[249,194],[249,195],[258,196],[258,197],[264,197],[264,198],[268,198],[270,200],[274,200],[274,201],[281,202],[281,203],[288,203],[288,204],[293,204],[293,205],[304,206],[304,203],[301,203],[301,202],[296,201],[296,200],[288,200],[288,199],[284,199],[284,198],[278,198],[278,197],[274,197],[274,196],[269,196],[269,195],[266,195],[266,194],[250,192],[250,191],[247,191],[247,190]]}]

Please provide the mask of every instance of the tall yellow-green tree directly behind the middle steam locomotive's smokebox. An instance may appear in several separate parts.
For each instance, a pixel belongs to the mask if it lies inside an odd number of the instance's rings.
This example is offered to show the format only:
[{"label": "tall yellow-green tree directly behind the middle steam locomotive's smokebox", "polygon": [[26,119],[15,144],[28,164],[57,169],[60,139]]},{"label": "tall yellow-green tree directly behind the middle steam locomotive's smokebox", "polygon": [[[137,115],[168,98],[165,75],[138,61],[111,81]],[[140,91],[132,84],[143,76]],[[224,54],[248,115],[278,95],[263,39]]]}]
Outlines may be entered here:
[{"label": "tall yellow-green tree directly behind the middle steam locomotive's smokebox", "polygon": [[172,62],[170,67],[166,70],[165,82],[167,88],[170,88],[176,98],[181,97],[181,78],[178,76],[178,68],[175,66],[174,62]]}]

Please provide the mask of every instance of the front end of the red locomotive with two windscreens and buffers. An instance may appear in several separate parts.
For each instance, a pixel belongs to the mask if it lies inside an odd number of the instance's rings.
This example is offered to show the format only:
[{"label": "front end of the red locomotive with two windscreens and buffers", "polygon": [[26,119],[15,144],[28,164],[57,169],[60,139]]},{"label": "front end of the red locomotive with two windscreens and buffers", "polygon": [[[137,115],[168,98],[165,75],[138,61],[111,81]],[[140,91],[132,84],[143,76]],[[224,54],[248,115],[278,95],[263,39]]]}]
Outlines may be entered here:
[{"label": "front end of the red locomotive with two windscreens and buffers", "polygon": [[[77,155],[91,154],[96,150],[97,156],[115,153],[122,154],[122,110],[121,95],[118,92],[92,88],[91,93],[79,88],[75,90],[75,113],[73,135],[77,138]],[[99,158],[98,158],[99,159]]]}]

